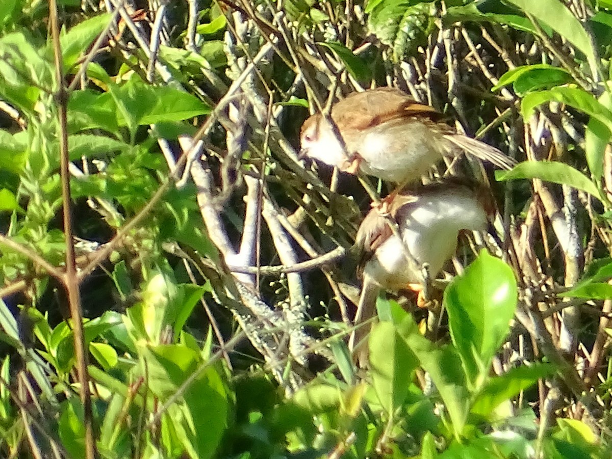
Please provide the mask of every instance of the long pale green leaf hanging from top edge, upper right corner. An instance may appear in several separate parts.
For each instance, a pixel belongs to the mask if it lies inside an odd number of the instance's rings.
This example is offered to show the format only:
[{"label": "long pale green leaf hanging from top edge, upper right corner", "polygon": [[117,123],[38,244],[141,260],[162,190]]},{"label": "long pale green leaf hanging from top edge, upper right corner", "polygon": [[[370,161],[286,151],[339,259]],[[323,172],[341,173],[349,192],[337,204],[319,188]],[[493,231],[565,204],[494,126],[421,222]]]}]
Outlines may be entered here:
[{"label": "long pale green leaf hanging from top edge, upper right corner", "polygon": [[559,35],[582,51],[592,69],[597,68],[595,50],[591,37],[584,30],[578,18],[559,0],[507,0],[536,20],[553,29]]}]

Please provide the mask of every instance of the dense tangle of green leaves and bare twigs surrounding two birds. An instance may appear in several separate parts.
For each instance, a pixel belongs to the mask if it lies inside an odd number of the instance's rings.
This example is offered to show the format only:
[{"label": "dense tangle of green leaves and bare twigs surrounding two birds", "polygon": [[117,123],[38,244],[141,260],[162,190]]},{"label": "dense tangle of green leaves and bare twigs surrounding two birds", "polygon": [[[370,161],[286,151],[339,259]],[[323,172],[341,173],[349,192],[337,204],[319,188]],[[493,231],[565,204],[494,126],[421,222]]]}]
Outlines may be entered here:
[{"label": "dense tangle of green leaves and bare twigs surrounding two birds", "polygon": [[[0,0],[0,455],[609,457],[611,37],[608,0]],[[364,371],[387,184],[296,149],[375,86],[520,164],[431,171],[499,238],[379,298]]]}]

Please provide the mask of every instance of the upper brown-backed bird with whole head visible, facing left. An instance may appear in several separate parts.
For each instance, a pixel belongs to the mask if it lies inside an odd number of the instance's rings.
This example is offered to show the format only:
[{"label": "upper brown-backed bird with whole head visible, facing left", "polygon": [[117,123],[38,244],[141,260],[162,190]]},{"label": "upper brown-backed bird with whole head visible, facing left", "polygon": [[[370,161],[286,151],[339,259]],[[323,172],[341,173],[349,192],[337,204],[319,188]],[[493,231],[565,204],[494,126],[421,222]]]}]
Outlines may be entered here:
[{"label": "upper brown-backed bird with whole head visible, facing left", "polygon": [[381,87],[351,94],[334,105],[331,118],[341,139],[326,117],[312,115],[302,125],[299,157],[308,156],[351,174],[360,171],[401,188],[419,179],[442,156],[460,150],[502,169],[515,164],[498,149],[457,134],[434,108],[399,89]]}]

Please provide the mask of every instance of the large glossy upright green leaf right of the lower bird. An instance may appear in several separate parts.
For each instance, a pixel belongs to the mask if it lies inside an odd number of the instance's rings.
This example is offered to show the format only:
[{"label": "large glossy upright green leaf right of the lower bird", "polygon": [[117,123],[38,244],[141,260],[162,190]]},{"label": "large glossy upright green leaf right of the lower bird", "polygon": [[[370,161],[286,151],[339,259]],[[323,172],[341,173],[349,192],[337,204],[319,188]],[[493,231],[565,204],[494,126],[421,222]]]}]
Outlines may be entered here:
[{"label": "large glossy upright green leaf right of the lower bird", "polygon": [[512,268],[483,250],[444,291],[450,337],[468,381],[480,387],[491,360],[504,343],[517,307]]}]

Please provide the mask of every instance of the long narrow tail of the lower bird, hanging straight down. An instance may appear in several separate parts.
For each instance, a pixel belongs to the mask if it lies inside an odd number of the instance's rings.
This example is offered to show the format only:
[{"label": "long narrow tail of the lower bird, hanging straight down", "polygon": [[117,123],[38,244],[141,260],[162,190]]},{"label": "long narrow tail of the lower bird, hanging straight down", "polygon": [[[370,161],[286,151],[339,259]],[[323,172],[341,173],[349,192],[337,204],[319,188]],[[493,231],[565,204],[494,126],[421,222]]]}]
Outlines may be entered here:
[{"label": "long narrow tail of the lower bird, hanging straight down", "polygon": [[349,351],[362,368],[368,362],[368,334],[371,329],[371,323],[364,324],[364,321],[376,315],[376,298],[378,298],[379,290],[378,285],[369,276],[364,277],[364,287],[359,296],[359,304],[357,304],[357,312],[353,321],[356,328],[348,340]]}]

